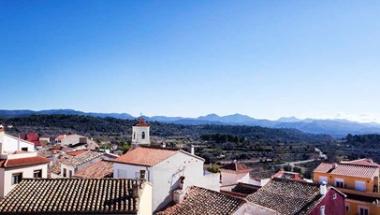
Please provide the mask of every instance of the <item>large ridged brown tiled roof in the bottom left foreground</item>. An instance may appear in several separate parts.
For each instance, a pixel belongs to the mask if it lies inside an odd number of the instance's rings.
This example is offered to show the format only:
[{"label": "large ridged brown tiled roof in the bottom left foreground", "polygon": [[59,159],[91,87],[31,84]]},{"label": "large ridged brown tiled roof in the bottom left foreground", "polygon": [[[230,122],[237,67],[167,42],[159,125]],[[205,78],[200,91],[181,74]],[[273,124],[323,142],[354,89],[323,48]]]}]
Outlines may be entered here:
[{"label": "large ridged brown tiled roof in the bottom left foreground", "polygon": [[0,202],[0,214],[136,214],[136,185],[128,179],[24,179]]}]

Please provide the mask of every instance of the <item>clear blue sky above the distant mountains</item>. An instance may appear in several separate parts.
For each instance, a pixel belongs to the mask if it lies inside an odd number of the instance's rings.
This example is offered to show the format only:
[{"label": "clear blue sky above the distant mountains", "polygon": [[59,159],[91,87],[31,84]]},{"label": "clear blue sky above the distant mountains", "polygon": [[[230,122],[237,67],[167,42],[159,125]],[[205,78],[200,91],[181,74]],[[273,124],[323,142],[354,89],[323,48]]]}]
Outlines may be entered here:
[{"label": "clear blue sky above the distant mountains", "polygon": [[0,109],[380,122],[380,1],[0,0]]}]

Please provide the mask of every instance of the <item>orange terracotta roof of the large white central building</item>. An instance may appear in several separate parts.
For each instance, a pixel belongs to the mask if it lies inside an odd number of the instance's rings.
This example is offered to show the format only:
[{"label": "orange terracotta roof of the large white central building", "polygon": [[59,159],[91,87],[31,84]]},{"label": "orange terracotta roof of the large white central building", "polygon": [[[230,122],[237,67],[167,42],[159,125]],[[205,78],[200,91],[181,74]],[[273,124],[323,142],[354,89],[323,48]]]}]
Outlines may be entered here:
[{"label": "orange terracotta roof of the large white central building", "polygon": [[177,152],[177,150],[163,148],[137,147],[118,157],[115,161],[126,164],[154,166]]}]

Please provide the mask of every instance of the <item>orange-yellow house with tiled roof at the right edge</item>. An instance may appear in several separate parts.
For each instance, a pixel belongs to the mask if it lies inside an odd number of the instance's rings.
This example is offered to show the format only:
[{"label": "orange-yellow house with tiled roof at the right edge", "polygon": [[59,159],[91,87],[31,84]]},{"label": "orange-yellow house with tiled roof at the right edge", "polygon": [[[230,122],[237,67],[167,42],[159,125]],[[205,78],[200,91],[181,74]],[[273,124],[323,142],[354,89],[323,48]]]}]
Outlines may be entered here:
[{"label": "orange-yellow house with tiled roof at the right edge", "polygon": [[315,183],[327,183],[347,195],[346,214],[380,214],[380,166],[371,159],[321,163],[313,171]]}]

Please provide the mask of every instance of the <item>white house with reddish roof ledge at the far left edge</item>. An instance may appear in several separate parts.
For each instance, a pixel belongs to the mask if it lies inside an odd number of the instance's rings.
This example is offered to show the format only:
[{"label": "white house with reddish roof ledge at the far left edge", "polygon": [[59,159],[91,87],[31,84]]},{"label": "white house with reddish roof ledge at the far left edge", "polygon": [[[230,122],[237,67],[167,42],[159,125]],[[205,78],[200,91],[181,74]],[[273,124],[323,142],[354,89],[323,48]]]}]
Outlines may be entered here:
[{"label": "white house with reddish roof ledge at the far left edge", "polygon": [[0,198],[23,178],[47,178],[48,163],[33,143],[6,134],[0,126]]}]

